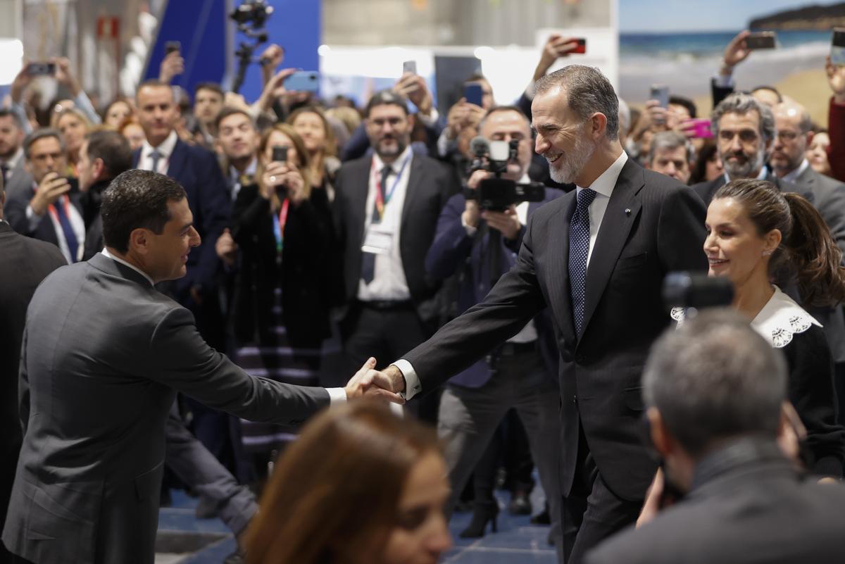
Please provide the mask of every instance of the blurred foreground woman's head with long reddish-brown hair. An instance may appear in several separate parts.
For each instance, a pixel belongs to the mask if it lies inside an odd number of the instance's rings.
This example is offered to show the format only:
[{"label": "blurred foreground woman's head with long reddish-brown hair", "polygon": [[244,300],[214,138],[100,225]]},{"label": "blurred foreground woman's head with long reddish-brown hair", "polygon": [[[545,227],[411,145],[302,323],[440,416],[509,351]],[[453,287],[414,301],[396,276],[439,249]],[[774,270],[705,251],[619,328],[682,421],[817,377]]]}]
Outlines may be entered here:
[{"label": "blurred foreground woman's head with long reddish-brown hair", "polygon": [[246,534],[250,564],[435,564],[450,548],[433,430],[382,404],[327,409],[275,468]]}]

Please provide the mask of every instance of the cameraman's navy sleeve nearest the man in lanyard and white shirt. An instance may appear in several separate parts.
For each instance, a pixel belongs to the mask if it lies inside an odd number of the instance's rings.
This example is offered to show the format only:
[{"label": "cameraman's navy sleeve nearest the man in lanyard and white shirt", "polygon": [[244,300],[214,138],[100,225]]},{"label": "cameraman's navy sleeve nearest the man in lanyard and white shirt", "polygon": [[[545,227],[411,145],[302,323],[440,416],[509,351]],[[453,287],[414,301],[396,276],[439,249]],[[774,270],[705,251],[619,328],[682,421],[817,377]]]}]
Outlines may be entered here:
[{"label": "cameraman's navy sleeve nearest the man in lanyard and white shirt", "polygon": [[461,224],[464,209],[466,200],[455,194],[440,212],[436,235],[425,259],[426,271],[435,279],[455,274],[472,252],[473,237],[466,234],[466,228]]}]

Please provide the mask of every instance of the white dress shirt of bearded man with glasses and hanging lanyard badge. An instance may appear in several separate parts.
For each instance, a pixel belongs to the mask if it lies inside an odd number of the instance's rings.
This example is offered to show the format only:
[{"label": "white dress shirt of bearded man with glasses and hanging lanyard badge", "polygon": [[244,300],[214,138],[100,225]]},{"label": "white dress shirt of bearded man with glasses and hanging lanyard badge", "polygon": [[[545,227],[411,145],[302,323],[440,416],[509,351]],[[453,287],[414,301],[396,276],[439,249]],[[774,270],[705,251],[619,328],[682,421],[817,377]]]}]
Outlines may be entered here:
[{"label": "white dress shirt of bearded man with glasses and hanging lanyard badge", "polygon": [[[387,186],[384,193],[390,194],[390,199],[384,205],[384,214],[379,226],[384,230],[390,230],[393,234],[390,252],[377,254],[375,256],[375,272],[373,281],[364,284],[363,279],[358,280],[358,299],[361,301],[405,301],[411,299],[411,290],[408,289],[408,282],[405,278],[405,268],[402,267],[400,252],[400,232],[402,222],[402,208],[405,205],[405,196],[408,189],[408,179],[411,177],[411,165],[413,152],[411,146],[405,148],[399,158],[391,164],[393,174],[387,179]],[[381,170],[384,168],[384,161],[379,155],[373,154],[374,166],[371,167],[369,177],[369,190],[367,203],[364,208],[364,236],[373,221],[373,208],[375,207],[375,194],[381,180]],[[402,166],[405,164],[404,167]],[[401,172],[401,176],[396,176]],[[395,187],[394,187],[395,184]],[[393,192],[390,193],[390,189]],[[362,241],[363,243],[363,241]]]}]

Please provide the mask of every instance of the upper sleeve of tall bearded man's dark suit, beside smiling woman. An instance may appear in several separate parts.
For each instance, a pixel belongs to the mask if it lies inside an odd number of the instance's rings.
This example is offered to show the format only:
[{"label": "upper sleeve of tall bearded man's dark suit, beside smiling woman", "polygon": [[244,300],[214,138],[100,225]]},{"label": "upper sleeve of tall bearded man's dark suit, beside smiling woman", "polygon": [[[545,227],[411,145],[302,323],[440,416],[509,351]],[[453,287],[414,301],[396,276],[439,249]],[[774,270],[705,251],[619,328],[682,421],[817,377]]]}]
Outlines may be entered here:
[{"label": "upper sleeve of tall bearded man's dark suit, beside smiling woman", "polygon": [[657,224],[657,252],[666,272],[706,271],[705,218],[704,203],[688,187],[673,190],[663,200]]}]

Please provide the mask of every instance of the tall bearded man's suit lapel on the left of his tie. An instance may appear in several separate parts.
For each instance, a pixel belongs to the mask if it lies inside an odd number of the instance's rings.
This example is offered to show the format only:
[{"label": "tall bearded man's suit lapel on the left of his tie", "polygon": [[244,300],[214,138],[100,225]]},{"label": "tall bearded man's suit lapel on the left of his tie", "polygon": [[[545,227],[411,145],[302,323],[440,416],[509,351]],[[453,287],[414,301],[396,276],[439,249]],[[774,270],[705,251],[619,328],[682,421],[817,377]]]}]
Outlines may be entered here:
[{"label": "tall bearded man's suit lapel on the left of his tie", "polygon": [[561,208],[559,217],[555,224],[559,227],[548,230],[548,248],[553,253],[559,252],[559,257],[550,257],[548,260],[551,277],[548,284],[549,303],[552,304],[553,312],[559,319],[560,330],[564,334],[564,340],[572,342],[575,340],[575,323],[572,320],[572,298],[570,296],[570,222],[572,214],[575,213],[575,190],[562,196],[569,201]]}]

